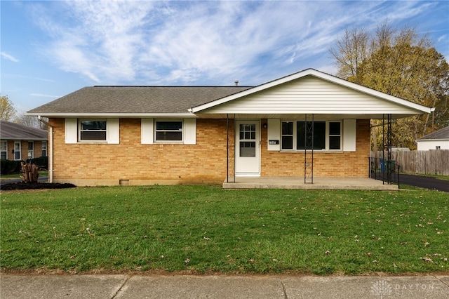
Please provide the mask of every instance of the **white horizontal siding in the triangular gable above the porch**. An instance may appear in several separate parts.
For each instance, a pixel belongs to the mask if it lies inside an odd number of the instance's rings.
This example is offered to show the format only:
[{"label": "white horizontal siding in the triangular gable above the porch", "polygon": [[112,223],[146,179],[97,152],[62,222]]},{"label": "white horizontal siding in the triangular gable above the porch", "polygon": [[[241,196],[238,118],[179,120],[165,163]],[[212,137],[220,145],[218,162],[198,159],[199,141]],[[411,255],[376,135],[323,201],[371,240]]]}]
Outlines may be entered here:
[{"label": "white horizontal siding in the triangular gable above the porch", "polygon": [[330,81],[303,77],[201,113],[415,114],[416,111]]}]

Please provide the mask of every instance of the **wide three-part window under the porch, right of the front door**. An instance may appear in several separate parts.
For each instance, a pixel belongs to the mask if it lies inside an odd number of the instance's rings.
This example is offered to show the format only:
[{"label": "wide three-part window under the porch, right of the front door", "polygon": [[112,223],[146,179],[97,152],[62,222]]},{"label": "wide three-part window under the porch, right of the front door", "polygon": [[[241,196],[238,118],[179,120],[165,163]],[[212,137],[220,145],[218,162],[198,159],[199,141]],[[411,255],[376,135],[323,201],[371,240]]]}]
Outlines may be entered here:
[{"label": "wide three-part window under the porch, right of the front door", "polygon": [[282,121],[282,150],[311,150],[312,144],[314,150],[342,150],[342,122]]}]

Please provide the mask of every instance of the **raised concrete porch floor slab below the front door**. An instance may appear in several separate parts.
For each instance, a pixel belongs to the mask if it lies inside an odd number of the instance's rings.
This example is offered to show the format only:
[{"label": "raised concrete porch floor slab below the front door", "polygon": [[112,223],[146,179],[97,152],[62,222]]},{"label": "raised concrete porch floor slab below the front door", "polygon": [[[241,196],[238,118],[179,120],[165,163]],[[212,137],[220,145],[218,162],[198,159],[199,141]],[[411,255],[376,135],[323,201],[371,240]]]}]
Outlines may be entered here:
[{"label": "raised concrete porch floor slab below the front door", "polygon": [[304,184],[304,177],[236,177],[225,179],[223,189],[308,189],[308,190],[383,190],[397,191],[397,185],[372,178],[314,178]]}]

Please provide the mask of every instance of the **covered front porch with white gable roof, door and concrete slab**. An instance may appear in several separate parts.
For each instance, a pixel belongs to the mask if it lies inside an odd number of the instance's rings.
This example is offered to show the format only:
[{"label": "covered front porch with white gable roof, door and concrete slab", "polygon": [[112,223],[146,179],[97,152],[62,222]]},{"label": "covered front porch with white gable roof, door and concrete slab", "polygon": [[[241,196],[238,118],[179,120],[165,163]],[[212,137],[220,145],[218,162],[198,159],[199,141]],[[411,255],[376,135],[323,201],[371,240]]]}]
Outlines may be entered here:
[{"label": "covered front porch with white gable roof, door and concrete slab", "polygon": [[226,119],[224,189],[398,190],[367,178],[370,119],[387,126],[389,153],[392,121],[431,108],[307,69],[189,112]]}]

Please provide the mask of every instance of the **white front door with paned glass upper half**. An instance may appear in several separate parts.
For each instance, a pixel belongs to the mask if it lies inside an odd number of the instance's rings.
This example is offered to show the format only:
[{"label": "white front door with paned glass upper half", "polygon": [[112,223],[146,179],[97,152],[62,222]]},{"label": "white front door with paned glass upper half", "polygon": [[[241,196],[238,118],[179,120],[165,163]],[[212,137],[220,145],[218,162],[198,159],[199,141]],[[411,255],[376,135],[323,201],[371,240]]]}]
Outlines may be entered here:
[{"label": "white front door with paned glass upper half", "polygon": [[236,121],[236,175],[260,175],[259,128],[259,121]]}]

